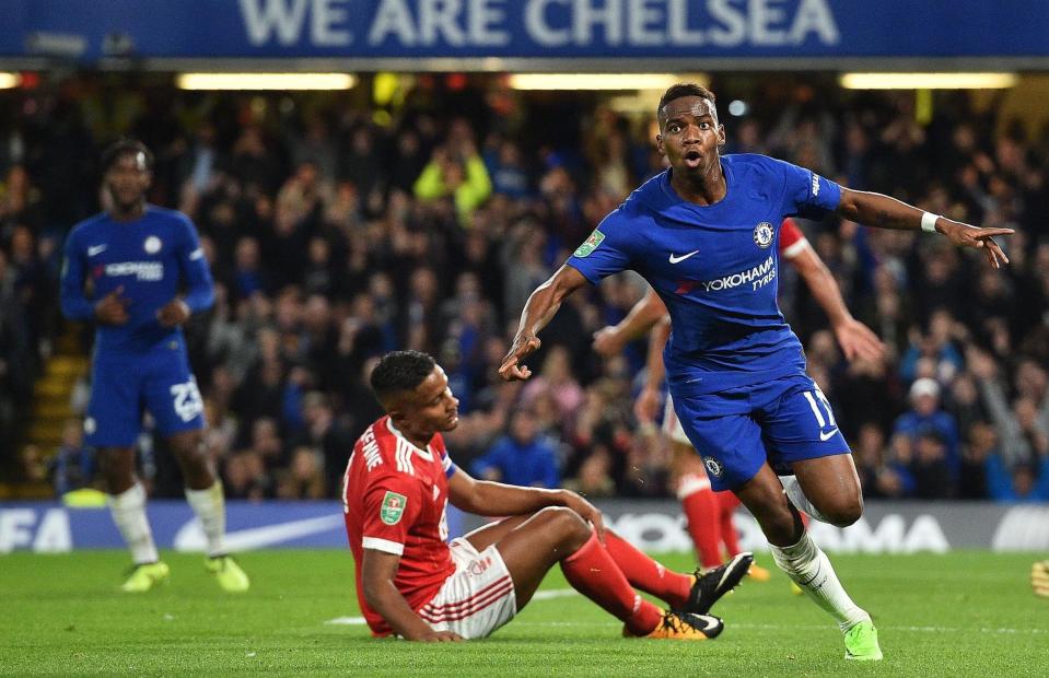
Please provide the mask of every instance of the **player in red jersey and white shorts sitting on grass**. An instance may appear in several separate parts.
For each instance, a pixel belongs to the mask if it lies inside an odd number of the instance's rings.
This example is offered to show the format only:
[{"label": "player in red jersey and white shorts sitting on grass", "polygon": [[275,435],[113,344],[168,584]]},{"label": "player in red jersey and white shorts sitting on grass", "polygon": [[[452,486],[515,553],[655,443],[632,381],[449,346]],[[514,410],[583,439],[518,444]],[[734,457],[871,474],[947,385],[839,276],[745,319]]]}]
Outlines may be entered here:
[{"label": "player in red jersey and white shorts sitting on grass", "polygon": [[[371,386],[387,416],[354,446],[342,494],[358,599],[374,635],[485,638],[528,603],[556,563],[576,591],[622,620],[626,636],[721,633],[722,621],[707,612],[746,574],[749,553],[703,575],[672,572],[605,529],[601,512],[574,492],[475,480],[444,448],[441,432],[458,424],[458,400],[424,353],[388,353]],[[450,545],[450,501],[510,517]]]}]

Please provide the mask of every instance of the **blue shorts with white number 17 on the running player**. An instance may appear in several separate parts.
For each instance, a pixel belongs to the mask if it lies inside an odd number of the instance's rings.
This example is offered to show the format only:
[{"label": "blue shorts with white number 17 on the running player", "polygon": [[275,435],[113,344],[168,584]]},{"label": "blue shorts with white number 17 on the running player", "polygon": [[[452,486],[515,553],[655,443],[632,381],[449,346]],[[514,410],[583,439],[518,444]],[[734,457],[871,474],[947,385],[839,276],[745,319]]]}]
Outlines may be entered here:
[{"label": "blue shorts with white number 17 on the running player", "polygon": [[701,395],[674,395],[685,435],[714,490],[734,490],[768,461],[789,475],[794,461],[849,454],[830,404],[806,374]]}]

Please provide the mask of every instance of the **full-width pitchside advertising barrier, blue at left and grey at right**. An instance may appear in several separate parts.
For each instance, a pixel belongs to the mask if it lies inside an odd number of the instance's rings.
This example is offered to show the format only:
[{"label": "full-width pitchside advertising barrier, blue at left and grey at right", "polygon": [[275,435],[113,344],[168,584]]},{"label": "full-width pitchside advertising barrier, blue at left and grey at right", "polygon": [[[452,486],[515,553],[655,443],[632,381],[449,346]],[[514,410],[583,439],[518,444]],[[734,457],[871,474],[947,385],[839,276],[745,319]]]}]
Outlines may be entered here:
[{"label": "full-width pitchside advertising barrier, blue at left and grey at right", "polygon": [[[671,500],[597,502],[605,524],[653,552],[689,551],[685,518]],[[162,549],[203,550],[200,524],[182,501],[153,501],[150,522]],[[263,548],[346,548],[339,502],[226,503],[228,543],[233,551]],[[761,550],[765,538],[745,511],[735,516],[739,543]],[[448,508],[450,533],[462,535],[481,518]],[[844,529],[813,522],[815,540],[844,553],[944,553],[952,549],[1049,551],[1049,504],[969,502],[869,502],[864,516]],[[0,553],[61,553],[78,549],[123,548],[109,511],[73,508],[54,502],[0,505]]]}]

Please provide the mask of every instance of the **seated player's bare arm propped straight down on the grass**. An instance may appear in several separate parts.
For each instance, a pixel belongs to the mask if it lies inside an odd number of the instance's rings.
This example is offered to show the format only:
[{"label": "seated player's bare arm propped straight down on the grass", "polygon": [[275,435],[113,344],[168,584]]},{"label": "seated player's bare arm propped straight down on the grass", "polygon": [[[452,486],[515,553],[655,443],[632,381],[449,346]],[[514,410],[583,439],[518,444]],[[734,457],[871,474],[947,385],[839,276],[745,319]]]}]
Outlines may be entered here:
[{"label": "seated player's bare arm propped straight down on the grass", "polygon": [[409,641],[448,642],[463,638],[452,631],[434,631],[416,615],[394,585],[400,556],[364,549],[361,557],[361,587],[364,599],[397,635]]}]

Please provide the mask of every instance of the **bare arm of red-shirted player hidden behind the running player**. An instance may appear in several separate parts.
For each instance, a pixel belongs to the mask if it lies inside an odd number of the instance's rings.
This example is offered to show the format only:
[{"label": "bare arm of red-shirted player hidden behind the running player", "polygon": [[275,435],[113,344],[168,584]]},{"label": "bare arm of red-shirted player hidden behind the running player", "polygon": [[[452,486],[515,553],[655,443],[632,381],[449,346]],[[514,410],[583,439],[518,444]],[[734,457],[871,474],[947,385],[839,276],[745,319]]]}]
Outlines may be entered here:
[{"label": "bare arm of red-shirted player hidden behind the running player", "polygon": [[830,327],[846,359],[882,360],[885,344],[870,327],[849,313],[838,281],[816,250],[806,246],[789,260],[802,274],[808,291],[830,319]]}]

